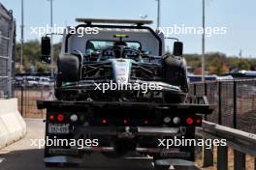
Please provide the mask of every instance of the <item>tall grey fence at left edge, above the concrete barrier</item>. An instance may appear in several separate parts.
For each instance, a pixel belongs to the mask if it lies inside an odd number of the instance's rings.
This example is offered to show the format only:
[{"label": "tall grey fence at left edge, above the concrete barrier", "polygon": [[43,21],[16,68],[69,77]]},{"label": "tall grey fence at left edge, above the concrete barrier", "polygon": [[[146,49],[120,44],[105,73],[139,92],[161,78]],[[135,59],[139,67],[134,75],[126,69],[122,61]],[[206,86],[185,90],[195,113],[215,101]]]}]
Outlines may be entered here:
[{"label": "tall grey fence at left edge, above the concrete barrier", "polygon": [[12,11],[0,3],[0,98],[14,96],[16,23]]}]

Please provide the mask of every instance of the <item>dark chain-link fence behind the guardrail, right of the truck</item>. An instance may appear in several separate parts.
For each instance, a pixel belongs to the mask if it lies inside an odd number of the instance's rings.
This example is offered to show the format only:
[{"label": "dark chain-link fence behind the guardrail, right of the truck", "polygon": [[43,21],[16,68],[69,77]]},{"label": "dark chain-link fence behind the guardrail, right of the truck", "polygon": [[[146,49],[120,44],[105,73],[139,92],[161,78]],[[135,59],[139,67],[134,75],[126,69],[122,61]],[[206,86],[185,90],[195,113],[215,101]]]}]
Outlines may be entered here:
[{"label": "dark chain-link fence behind the guardrail, right of the truck", "polygon": [[256,133],[256,79],[194,83],[190,94],[208,97],[209,122]]}]

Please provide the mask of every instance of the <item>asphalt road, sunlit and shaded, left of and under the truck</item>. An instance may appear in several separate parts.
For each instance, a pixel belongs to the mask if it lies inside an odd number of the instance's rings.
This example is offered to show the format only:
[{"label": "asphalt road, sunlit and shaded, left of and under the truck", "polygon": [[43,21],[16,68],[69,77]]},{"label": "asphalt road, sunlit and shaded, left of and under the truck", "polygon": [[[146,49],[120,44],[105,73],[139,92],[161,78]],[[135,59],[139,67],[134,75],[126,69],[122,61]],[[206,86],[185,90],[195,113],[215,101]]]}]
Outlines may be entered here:
[{"label": "asphalt road, sunlit and shaded, left of and under the truck", "polygon": [[[0,150],[0,170],[73,170],[74,168],[46,168],[43,162],[44,151],[32,145],[31,139],[44,139],[43,120],[26,120],[28,133],[26,137],[13,145]],[[95,154],[85,156],[77,169],[86,170],[152,170],[150,158],[109,159]],[[171,166],[171,169],[172,166]],[[180,169],[180,168],[178,168]]]}]

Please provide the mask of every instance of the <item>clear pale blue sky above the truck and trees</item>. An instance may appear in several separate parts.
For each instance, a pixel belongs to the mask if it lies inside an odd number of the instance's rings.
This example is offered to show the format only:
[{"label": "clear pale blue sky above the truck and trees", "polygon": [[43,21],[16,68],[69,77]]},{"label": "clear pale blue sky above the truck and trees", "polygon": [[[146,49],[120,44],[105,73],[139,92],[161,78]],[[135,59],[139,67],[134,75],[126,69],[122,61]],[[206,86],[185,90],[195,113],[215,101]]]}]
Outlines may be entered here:
[{"label": "clear pale blue sky above the truck and trees", "polygon": [[[21,0],[1,0],[14,11],[17,25],[17,41],[20,39]],[[161,26],[184,24],[202,25],[202,0],[161,0]],[[156,21],[155,0],[53,0],[53,23],[58,26],[76,24],[76,17],[139,18],[147,14]],[[228,55],[256,57],[256,1],[255,0],[207,0],[207,26],[227,27],[226,35],[207,38],[206,50],[221,51]],[[31,26],[49,23],[48,0],[24,0],[25,40],[39,39],[31,35]],[[153,25],[155,27],[155,25]],[[178,35],[184,42],[185,53],[201,53],[200,35]],[[55,39],[55,42],[57,39]]]}]

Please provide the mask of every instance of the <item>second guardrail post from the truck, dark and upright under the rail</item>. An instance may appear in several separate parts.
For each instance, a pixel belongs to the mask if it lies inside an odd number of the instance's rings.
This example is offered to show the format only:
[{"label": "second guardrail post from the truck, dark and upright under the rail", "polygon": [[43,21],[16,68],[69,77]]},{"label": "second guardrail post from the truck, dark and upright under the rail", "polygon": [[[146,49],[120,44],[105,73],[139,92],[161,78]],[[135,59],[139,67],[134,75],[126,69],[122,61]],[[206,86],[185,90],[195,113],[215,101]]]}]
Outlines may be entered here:
[{"label": "second guardrail post from the truck, dark and upright under the rail", "polygon": [[217,147],[217,170],[228,170],[228,147]]}]

